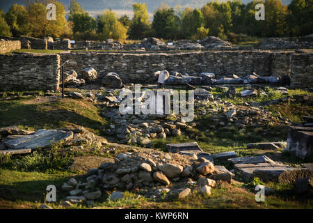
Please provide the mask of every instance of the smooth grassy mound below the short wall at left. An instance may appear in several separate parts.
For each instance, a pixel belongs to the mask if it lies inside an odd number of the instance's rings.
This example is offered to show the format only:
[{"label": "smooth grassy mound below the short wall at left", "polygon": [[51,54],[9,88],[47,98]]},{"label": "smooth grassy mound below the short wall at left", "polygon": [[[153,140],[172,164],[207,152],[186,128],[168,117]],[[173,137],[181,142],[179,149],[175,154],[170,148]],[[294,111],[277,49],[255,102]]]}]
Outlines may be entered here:
[{"label": "smooth grassy mound below the short wall at left", "polygon": [[23,125],[25,128],[67,128],[82,125],[99,134],[106,120],[92,102],[65,98],[54,102],[28,103],[33,97],[6,100],[0,103],[0,127]]}]

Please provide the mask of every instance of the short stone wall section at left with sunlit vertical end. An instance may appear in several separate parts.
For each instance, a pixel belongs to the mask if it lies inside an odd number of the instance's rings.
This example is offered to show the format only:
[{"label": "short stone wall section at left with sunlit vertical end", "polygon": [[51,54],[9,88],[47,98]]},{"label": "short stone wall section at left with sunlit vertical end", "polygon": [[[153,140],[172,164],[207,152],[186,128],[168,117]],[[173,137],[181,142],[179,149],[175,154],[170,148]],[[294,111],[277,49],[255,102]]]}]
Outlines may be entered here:
[{"label": "short stone wall section at left with sunlit vertical end", "polygon": [[58,54],[2,54],[0,61],[0,91],[58,89]]}]

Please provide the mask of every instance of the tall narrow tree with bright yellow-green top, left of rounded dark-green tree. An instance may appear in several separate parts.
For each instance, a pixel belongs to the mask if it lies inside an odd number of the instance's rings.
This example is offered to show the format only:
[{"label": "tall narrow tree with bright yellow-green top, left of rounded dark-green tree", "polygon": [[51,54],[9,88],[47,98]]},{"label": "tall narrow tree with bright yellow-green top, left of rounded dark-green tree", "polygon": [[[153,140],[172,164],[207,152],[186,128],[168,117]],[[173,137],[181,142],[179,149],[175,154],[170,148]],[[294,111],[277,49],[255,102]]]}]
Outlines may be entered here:
[{"label": "tall narrow tree with bright yellow-green top, left of rounded dark-green tree", "polygon": [[145,3],[134,3],[134,17],[131,21],[129,36],[132,39],[142,39],[150,36],[149,14]]}]

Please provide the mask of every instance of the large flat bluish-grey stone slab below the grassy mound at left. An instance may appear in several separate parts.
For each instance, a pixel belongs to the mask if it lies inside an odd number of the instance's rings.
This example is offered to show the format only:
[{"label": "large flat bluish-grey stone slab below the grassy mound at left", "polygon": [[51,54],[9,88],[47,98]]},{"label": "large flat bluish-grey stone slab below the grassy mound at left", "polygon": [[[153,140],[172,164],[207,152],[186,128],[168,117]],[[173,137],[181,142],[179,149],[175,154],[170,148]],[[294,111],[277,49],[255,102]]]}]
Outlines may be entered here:
[{"label": "large flat bluish-grey stone slab below the grassy mound at left", "polygon": [[8,148],[23,149],[23,148],[40,148],[51,145],[61,140],[71,139],[73,132],[64,132],[59,130],[38,130],[35,134],[11,139],[4,144]]}]

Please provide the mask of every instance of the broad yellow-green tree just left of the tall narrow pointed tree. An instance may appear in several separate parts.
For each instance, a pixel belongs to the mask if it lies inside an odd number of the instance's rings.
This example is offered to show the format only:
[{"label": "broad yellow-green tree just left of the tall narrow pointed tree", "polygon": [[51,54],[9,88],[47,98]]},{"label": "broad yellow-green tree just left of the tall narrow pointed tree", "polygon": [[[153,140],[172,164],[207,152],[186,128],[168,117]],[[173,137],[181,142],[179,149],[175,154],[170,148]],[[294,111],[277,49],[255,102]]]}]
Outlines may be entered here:
[{"label": "broad yellow-green tree just left of the tall narrow pointed tree", "polygon": [[125,40],[127,38],[127,29],[111,10],[104,10],[102,15],[97,17],[97,30],[102,33],[104,39]]}]

